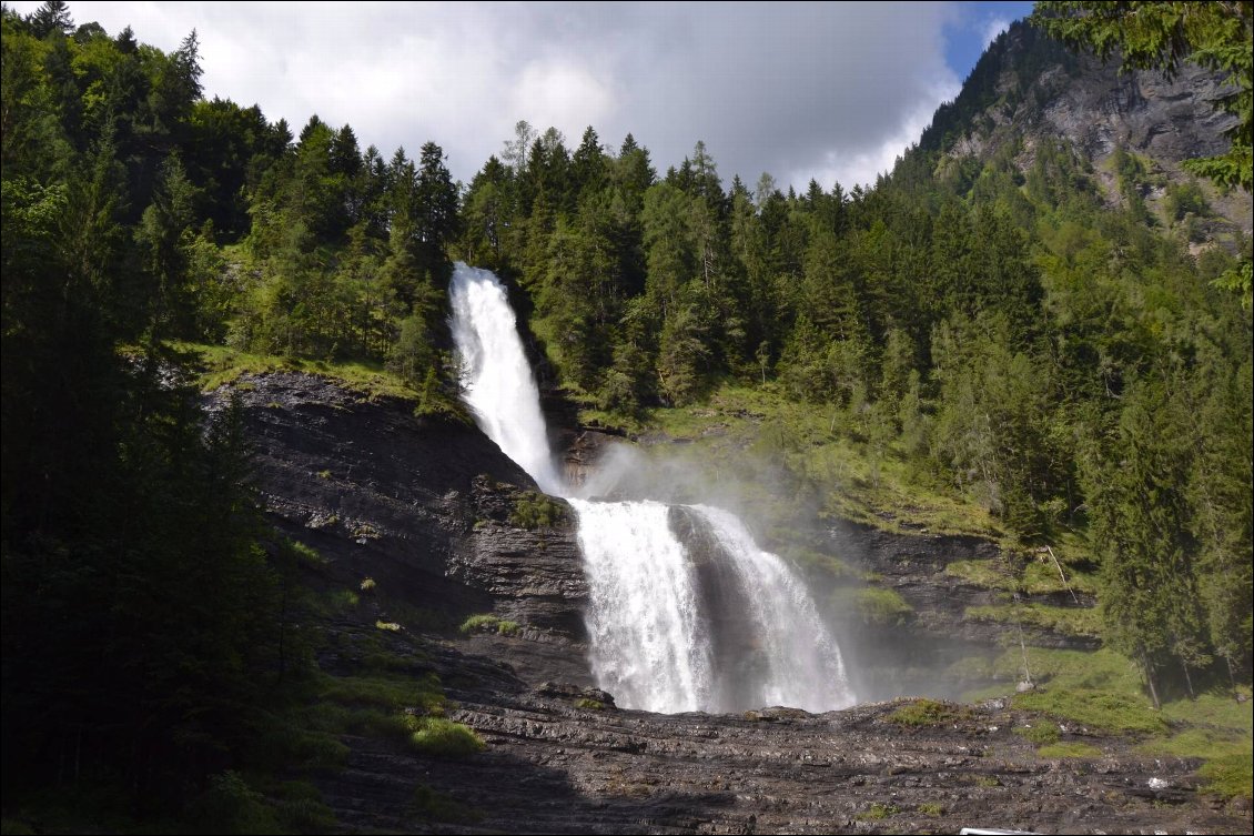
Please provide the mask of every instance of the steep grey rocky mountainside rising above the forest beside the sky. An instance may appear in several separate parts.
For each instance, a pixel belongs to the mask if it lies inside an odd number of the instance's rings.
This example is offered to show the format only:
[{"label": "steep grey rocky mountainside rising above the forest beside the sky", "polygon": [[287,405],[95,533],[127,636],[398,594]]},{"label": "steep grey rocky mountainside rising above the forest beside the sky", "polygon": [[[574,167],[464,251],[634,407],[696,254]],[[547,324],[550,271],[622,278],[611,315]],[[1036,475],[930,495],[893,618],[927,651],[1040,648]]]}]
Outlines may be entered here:
[{"label": "steep grey rocky mountainside rising above the forest beside the sky", "polygon": [[[962,162],[988,162],[1007,154],[1027,173],[1046,142],[1061,142],[1083,161],[1107,205],[1126,203],[1112,166],[1116,148],[1144,166],[1136,190],[1160,223],[1175,226],[1164,198],[1170,185],[1194,181],[1181,162],[1224,153],[1224,132],[1235,124],[1214,102],[1225,92],[1216,75],[1183,64],[1167,77],[1159,70],[1121,73],[1117,58],[1100,62],[1076,55],[1027,26],[1013,24],[979,60],[962,93],[937,112],[920,147],[939,152],[935,172],[957,172]],[[1204,212],[1186,218],[1195,242],[1233,245],[1233,233],[1249,235],[1254,217],[1249,196],[1199,182]]]}]

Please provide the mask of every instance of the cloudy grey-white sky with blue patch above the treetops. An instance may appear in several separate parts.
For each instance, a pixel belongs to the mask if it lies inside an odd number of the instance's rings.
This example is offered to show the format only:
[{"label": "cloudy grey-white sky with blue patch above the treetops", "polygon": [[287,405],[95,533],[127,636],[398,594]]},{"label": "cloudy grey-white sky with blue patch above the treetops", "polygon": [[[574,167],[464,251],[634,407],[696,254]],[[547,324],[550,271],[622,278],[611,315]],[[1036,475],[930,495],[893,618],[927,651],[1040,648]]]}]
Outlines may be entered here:
[{"label": "cloudy grey-white sky with blue patch above the treetops", "polygon": [[[29,14],[38,3],[10,4]],[[872,182],[1028,3],[69,3],[176,49],[206,95],[298,131],[349,123],[385,156],[426,141],[469,181],[525,119],[569,146],[631,132],[660,172],[701,139],[727,183]]]}]

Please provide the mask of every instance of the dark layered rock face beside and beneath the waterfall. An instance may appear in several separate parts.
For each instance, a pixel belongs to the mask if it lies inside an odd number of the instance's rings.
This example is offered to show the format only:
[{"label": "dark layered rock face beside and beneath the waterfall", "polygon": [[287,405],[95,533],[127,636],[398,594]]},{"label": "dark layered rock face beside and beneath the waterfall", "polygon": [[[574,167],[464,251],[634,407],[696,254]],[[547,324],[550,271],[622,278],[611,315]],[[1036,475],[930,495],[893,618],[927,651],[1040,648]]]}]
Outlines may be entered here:
[{"label": "dark layered rock face beside and beneath the waterfall", "polygon": [[[488,744],[449,761],[346,736],[346,768],[316,781],[350,831],[1249,830],[1248,813],[1199,797],[1195,762],[1147,759],[1081,728],[1061,734],[1100,746],[1101,757],[1040,757],[1014,729],[1047,721],[1001,700],[933,704],[939,714],[923,723],[898,713],[910,702],[823,715],[614,709],[591,688],[569,515],[561,505],[542,518],[520,513],[534,486],[490,441],[306,375],[257,377],[237,390],[273,525],[320,551],[324,576],[354,589],[369,577],[377,591],[372,609],[324,625],[324,668],[335,674],[360,648],[386,643],[414,670],[436,673],[449,715]],[[833,537],[900,580],[920,613],[961,592],[929,589],[937,565],[991,547],[855,527]],[[464,636],[456,625],[473,614],[519,629]],[[393,619],[404,629],[379,629]],[[915,635],[930,624],[920,615]],[[418,787],[446,803],[415,806]]]}]

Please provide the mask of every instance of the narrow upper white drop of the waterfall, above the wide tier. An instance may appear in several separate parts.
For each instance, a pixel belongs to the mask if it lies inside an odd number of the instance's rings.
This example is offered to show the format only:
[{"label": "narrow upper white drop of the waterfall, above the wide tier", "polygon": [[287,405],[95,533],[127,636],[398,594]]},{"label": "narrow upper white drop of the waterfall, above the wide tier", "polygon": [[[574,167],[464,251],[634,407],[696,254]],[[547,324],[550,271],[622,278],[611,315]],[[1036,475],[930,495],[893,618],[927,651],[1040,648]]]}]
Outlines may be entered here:
[{"label": "narrow upper white drop of the waterfall, above the wide tier", "polygon": [[449,300],[453,341],[461,355],[463,397],[475,421],[542,491],[563,496],[566,483],[548,443],[540,393],[504,285],[492,271],[458,261]]}]

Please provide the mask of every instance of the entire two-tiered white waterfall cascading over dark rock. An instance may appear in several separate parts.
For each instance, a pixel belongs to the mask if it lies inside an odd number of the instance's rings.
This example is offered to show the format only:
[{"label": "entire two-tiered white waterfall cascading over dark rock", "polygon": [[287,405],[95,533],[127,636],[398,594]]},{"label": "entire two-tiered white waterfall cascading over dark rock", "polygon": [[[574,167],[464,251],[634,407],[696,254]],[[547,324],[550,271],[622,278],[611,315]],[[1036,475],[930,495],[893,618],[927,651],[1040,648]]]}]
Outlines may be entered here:
[{"label": "entire two-tiered white waterfall cascading over dark rock", "polygon": [[[667,713],[851,705],[840,650],[805,585],[735,515],[571,496],[505,289],[458,262],[450,296],[464,397],[479,427],[578,516],[597,684],[623,708]],[[676,536],[673,512],[707,541],[702,554]]]}]

